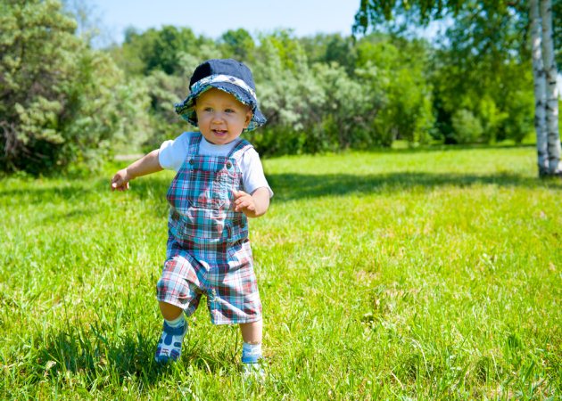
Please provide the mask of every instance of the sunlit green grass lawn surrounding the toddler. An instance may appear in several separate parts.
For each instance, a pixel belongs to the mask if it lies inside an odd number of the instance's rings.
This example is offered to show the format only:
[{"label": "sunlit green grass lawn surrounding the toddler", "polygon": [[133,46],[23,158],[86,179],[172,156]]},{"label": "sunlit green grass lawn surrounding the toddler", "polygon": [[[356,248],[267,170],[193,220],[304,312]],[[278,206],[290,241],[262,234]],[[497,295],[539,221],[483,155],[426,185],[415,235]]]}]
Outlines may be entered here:
[{"label": "sunlit green grass lawn surrounding the toddler", "polygon": [[533,147],[264,160],[263,386],[236,327],[153,351],[169,172],[0,183],[1,399],[559,399],[562,181]]}]

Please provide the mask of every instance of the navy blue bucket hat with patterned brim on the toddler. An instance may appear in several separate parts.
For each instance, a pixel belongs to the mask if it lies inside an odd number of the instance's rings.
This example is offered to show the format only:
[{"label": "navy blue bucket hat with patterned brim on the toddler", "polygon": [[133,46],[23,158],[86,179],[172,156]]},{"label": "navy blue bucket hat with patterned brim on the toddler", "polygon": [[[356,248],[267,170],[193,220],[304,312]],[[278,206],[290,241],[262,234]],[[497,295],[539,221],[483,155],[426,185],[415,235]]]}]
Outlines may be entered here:
[{"label": "navy blue bucket hat with patterned brim on the toddler", "polygon": [[175,104],[176,112],[182,119],[197,127],[195,99],[211,87],[232,94],[238,102],[252,107],[252,119],[246,128],[247,131],[252,131],[266,123],[266,118],[258,107],[252,71],[244,63],[232,59],[204,61],[194,70],[194,75],[189,81],[189,95],[183,102]]}]

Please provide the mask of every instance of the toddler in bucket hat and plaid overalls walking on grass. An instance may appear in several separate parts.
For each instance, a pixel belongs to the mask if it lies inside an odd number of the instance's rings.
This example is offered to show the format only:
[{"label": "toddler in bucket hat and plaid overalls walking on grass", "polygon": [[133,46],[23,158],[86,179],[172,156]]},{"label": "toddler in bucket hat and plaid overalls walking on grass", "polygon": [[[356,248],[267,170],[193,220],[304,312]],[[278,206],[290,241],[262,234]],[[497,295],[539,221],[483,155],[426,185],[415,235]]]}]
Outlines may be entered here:
[{"label": "toddler in bucket hat and plaid overalls walking on grass", "polygon": [[181,355],[184,315],[202,295],[214,324],[239,324],[244,372],[260,372],[261,302],[246,217],[260,217],[273,192],[260,157],[240,135],[265,124],[252,72],[235,60],[209,60],[195,70],[176,111],[199,132],[166,141],[112,178],[112,190],[163,168],[177,171],[169,201],[166,261],[157,284],[164,318],[155,359]]}]

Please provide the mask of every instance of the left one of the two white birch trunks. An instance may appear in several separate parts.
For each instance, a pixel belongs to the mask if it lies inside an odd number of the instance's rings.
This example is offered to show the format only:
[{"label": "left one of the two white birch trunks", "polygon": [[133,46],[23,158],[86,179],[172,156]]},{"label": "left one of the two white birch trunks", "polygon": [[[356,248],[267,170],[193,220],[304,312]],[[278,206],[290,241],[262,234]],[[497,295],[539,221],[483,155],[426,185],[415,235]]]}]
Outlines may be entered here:
[{"label": "left one of the two white birch trunks", "polygon": [[537,133],[539,176],[544,176],[549,172],[549,149],[546,132],[546,80],[542,65],[539,0],[530,0],[529,7],[534,80],[534,129]]}]

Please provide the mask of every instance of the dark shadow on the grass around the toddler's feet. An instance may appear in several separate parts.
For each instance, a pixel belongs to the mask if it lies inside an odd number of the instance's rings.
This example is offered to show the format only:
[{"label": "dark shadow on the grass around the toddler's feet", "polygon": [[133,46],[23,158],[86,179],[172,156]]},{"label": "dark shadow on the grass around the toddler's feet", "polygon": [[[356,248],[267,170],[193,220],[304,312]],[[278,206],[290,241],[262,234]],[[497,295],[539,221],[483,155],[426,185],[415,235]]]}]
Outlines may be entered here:
[{"label": "dark shadow on the grass around the toddler's feet", "polygon": [[90,391],[105,386],[121,387],[135,377],[148,389],[173,377],[177,369],[185,371],[189,365],[209,373],[237,371],[236,356],[231,349],[209,355],[199,344],[186,338],[180,361],[158,364],[153,353],[160,330],[156,329],[150,336],[136,331],[109,337],[114,334],[115,328],[109,323],[95,322],[89,329],[69,324],[66,330],[36,338],[37,359],[29,364],[29,380],[57,381],[73,377]]}]

